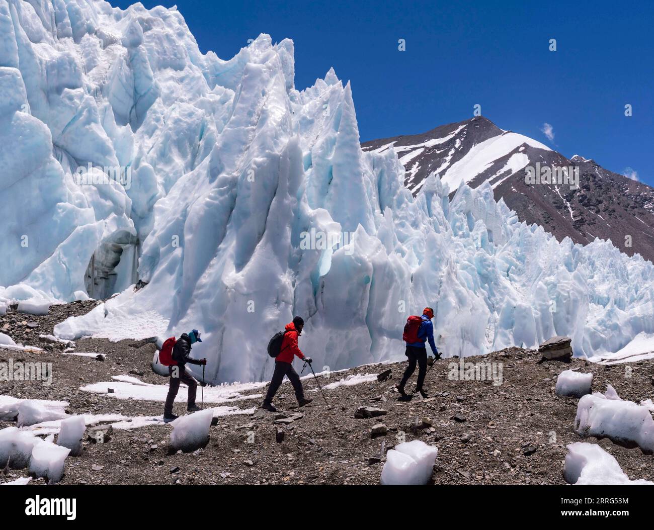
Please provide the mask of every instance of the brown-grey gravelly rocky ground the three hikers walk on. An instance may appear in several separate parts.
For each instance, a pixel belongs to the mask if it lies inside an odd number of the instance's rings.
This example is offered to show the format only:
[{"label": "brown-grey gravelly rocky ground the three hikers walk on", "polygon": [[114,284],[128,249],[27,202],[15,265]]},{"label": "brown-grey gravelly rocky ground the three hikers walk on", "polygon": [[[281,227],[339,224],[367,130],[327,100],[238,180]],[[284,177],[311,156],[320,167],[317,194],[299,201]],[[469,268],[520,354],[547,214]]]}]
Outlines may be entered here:
[{"label": "brown-grey gravelly rocky ground the three hikers walk on", "polygon": [[[67,401],[70,414],[160,416],[161,402],[120,400],[111,394],[79,390],[84,384],[110,381],[120,374],[167,384],[150,369],[156,350],[151,342],[77,341],[75,351],[104,354],[101,361],[65,356],[67,344],[39,339],[39,335],[52,334],[54,324],[71,314],[88,312],[94,304],[52,306],[46,316],[15,311],[1,316],[2,333],[43,352],[0,349],[0,363],[10,358],[51,362],[53,380],[51,386],[39,381],[0,381],[0,395]],[[349,374],[380,374],[390,369],[387,380],[327,390],[330,408],[320,393],[309,391],[313,403],[296,410],[286,383],[275,403],[286,416],[303,413],[297,420],[275,424],[275,414],[262,410],[253,416],[224,416],[211,427],[209,444],[188,454],[168,454],[169,425],[116,429],[107,443],[86,441],[80,456],[68,457],[60,484],[378,484],[385,450],[404,439],[438,446],[434,484],[564,484],[566,444],[580,440],[572,429],[578,400],[555,395],[557,374],[575,367],[592,372],[594,391],[603,392],[611,384],[623,399],[639,402],[654,397],[654,361],[608,366],[581,359],[570,363],[540,359],[538,352],[521,348],[466,357],[466,362],[501,363],[501,385],[490,380],[452,380],[449,363],[457,359],[441,359],[426,378],[431,397],[414,397],[408,403],[398,401],[394,391],[406,363],[367,365],[332,373],[328,380],[321,378],[326,384]],[[316,388],[314,380],[304,380],[304,384],[307,389]],[[248,408],[259,403],[260,399],[245,400],[238,405]],[[386,414],[355,418],[361,406],[381,408]],[[183,403],[175,407],[177,414],[184,413]],[[373,426],[379,423],[385,427],[376,427],[375,432],[381,434],[373,435]],[[0,422],[0,429],[13,424]],[[654,480],[652,455],[606,439],[588,441],[610,452],[630,478]],[[26,471],[10,471],[0,481],[18,476],[26,476]]]}]

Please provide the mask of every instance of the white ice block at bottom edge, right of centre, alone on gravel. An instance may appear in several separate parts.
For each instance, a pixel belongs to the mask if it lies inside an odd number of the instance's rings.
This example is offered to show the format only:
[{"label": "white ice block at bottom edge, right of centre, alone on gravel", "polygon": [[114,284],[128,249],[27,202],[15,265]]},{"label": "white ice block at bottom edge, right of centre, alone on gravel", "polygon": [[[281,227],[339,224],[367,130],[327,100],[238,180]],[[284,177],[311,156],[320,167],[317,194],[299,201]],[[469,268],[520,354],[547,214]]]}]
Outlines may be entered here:
[{"label": "white ice block at bottom edge, right of centre, alone on gravel", "polygon": [[427,484],[432,478],[438,448],[422,440],[403,442],[390,449],[381,470],[382,484]]}]

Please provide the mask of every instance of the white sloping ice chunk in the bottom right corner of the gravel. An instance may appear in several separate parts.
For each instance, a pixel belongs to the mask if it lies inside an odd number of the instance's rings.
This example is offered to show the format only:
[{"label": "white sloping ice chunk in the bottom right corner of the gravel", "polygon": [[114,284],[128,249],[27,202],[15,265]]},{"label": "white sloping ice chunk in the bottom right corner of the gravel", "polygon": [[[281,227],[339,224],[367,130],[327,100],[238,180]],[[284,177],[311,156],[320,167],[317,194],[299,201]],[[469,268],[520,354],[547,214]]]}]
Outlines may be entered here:
[{"label": "white sloping ice chunk in the bottom right corner of the gravel", "polygon": [[629,480],[617,460],[596,444],[568,444],[563,467],[568,484],[654,484],[649,480]]}]

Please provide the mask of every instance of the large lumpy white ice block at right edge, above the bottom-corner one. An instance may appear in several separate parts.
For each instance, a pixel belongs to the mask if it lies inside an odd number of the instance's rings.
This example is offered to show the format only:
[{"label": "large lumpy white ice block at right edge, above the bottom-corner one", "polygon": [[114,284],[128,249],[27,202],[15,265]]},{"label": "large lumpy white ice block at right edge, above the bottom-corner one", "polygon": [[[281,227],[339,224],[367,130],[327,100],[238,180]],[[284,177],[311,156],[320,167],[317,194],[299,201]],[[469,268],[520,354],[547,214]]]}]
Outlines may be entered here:
[{"label": "large lumpy white ice block at right edge, above the bottom-corner one", "polygon": [[577,403],[574,430],[581,436],[608,438],[625,447],[654,452],[654,420],[647,406],[604,394],[587,394]]}]

